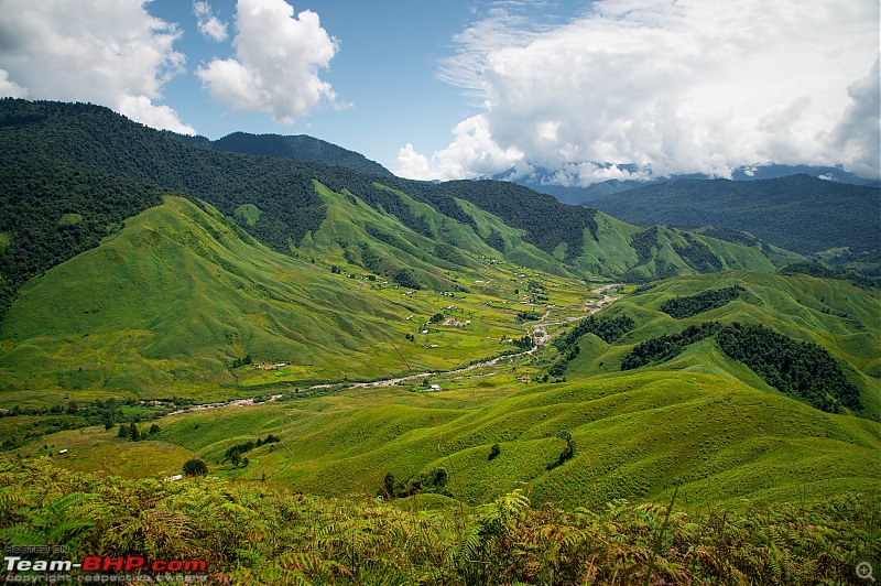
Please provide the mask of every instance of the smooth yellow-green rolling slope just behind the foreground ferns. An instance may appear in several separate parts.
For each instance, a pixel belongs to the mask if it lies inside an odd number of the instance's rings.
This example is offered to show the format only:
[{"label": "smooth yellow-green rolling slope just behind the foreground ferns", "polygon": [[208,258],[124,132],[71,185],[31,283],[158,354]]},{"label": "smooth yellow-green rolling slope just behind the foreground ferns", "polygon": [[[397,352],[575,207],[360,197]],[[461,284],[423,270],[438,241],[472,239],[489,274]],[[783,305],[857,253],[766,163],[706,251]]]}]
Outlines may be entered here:
[{"label": "smooth yellow-green rolling slope just behind the foreground ferns", "polygon": [[[575,455],[554,466],[564,430]],[[221,464],[228,447],[268,433],[283,443],[249,452],[247,468]],[[449,493],[469,503],[518,488],[567,508],[659,500],[675,482],[688,506],[813,501],[881,481],[878,423],[697,372],[529,387],[488,380],[442,393],[352,390],[173,416],[157,441],[193,451],[213,474],[265,476],[322,495],[372,496],[388,473],[406,480],[443,467]]]}]

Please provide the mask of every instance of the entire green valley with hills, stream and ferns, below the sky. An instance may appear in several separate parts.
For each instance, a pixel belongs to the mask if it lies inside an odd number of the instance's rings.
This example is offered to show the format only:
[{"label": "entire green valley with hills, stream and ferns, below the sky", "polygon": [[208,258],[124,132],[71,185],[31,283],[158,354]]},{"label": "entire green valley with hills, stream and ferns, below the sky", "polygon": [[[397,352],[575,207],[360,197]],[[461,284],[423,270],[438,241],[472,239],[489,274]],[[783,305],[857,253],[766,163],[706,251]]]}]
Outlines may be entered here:
[{"label": "entire green valley with hills, stream and ferns, below the sky", "polygon": [[879,555],[871,239],[828,267],[802,231],[81,104],[0,101],[0,148],[4,544],[243,584],[836,583]]}]

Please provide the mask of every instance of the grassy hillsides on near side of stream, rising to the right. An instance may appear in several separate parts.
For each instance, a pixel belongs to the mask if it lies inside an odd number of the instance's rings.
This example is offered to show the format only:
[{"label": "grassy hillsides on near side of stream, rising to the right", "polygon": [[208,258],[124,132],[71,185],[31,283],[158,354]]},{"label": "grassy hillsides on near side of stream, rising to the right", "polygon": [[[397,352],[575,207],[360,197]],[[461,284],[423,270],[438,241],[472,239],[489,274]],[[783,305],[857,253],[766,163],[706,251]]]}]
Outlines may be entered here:
[{"label": "grassy hillsides on near side of stream, rising to the right", "polygon": [[[661,308],[724,285],[737,295],[715,307],[681,318]],[[154,474],[198,456],[213,474],[325,496],[372,496],[389,474],[403,485],[443,468],[448,480],[438,490],[470,504],[515,489],[564,508],[617,498],[663,501],[676,484],[689,506],[822,501],[870,491],[881,480],[878,307],[878,291],[806,275],[677,278],[603,310],[603,319],[630,316],[631,329],[610,341],[594,334],[578,339],[580,351],[564,371],[568,382],[516,381],[539,380],[557,361],[558,350],[548,346],[494,367],[392,387],[316,389],[249,408],[171,415],[138,445],[176,454]],[[639,341],[687,324],[735,321],[829,349],[861,391],[862,419],[784,397],[709,338],[665,362],[620,370]],[[428,380],[443,390],[428,392]],[[565,458],[561,432],[574,446]],[[231,446],[268,434],[282,442],[249,451],[247,467],[225,462]],[[112,456],[113,445],[132,445],[116,428],[61,431],[19,452],[44,455],[46,443],[72,448],[76,458],[63,459],[65,466],[86,469],[100,459],[115,473],[138,474],[127,468],[124,451]]]}]

